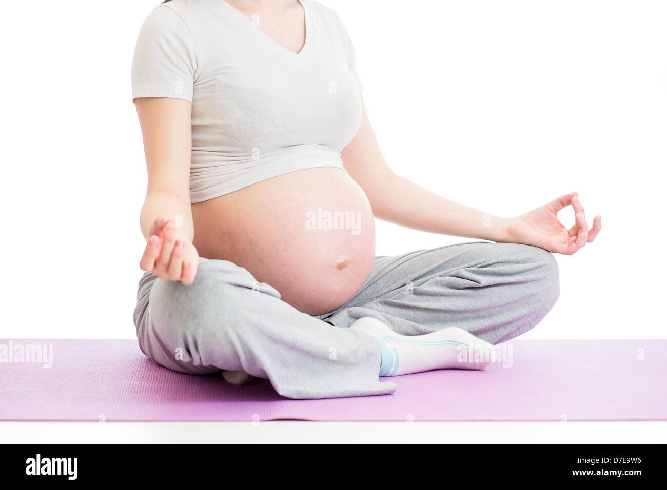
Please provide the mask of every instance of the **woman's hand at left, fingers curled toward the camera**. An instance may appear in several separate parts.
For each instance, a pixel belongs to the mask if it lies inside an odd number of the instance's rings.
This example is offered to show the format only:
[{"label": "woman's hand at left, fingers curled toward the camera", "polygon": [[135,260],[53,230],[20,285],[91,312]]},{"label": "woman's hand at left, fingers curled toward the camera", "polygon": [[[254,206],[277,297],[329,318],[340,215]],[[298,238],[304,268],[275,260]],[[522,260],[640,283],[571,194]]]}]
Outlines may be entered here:
[{"label": "woman's hand at left, fingers curled toward the camera", "polygon": [[155,219],[139,267],[160,279],[192,284],[197,275],[199,254],[189,238],[179,235],[171,219]]}]

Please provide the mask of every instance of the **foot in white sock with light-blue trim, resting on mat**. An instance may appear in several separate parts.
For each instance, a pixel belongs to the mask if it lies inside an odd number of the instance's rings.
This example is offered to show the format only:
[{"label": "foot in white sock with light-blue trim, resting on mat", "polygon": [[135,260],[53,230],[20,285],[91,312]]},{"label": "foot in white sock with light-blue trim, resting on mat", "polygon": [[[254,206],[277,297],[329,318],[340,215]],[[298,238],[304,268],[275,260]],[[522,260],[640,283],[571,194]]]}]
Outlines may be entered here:
[{"label": "foot in white sock with light-blue trim, resting on mat", "polygon": [[363,317],[350,328],[374,337],[382,348],[381,375],[399,376],[432,369],[484,369],[496,360],[496,349],[458,327],[425,335],[400,335],[382,321]]}]

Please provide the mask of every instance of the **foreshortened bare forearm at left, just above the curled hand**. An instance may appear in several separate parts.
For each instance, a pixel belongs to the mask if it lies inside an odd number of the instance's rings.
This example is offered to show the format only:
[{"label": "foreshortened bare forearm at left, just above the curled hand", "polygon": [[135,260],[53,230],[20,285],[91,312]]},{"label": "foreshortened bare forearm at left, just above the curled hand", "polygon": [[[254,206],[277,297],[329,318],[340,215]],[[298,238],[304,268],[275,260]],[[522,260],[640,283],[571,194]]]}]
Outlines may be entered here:
[{"label": "foreshortened bare forearm at left, just above the curled hand", "polygon": [[195,231],[192,223],[192,209],[189,197],[161,192],[151,192],[141,208],[141,232],[148,239],[151,226],[158,217],[173,219],[177,234],[190,242],[194,239]]}]

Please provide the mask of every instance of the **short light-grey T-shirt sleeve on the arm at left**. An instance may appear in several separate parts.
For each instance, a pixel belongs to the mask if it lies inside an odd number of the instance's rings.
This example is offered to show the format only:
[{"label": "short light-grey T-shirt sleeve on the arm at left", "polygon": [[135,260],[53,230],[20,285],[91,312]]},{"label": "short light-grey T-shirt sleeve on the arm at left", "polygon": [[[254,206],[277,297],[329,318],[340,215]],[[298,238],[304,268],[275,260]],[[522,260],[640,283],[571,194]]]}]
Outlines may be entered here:
[{"label": "short light-grey T-shirt sleeve on the arm at left", "polygon": [[185,21],[157,5],[139,30],[132,60],[132,101],[173,97],[192,102],[199,49]]}]

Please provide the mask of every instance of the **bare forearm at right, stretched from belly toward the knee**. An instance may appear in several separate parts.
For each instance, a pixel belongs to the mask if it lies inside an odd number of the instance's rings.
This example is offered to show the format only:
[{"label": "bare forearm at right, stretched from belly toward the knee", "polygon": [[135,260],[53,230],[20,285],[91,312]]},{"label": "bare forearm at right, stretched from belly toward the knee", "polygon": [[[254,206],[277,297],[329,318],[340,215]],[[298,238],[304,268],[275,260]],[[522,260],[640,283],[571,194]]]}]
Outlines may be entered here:
[{"label": "bare forearm at right, stretched from belly toward the knee", "polygon": [[508,241],[509,219],[440,197],[392,174],[367,191],[375,217],[408,228],[491,241]]}]

